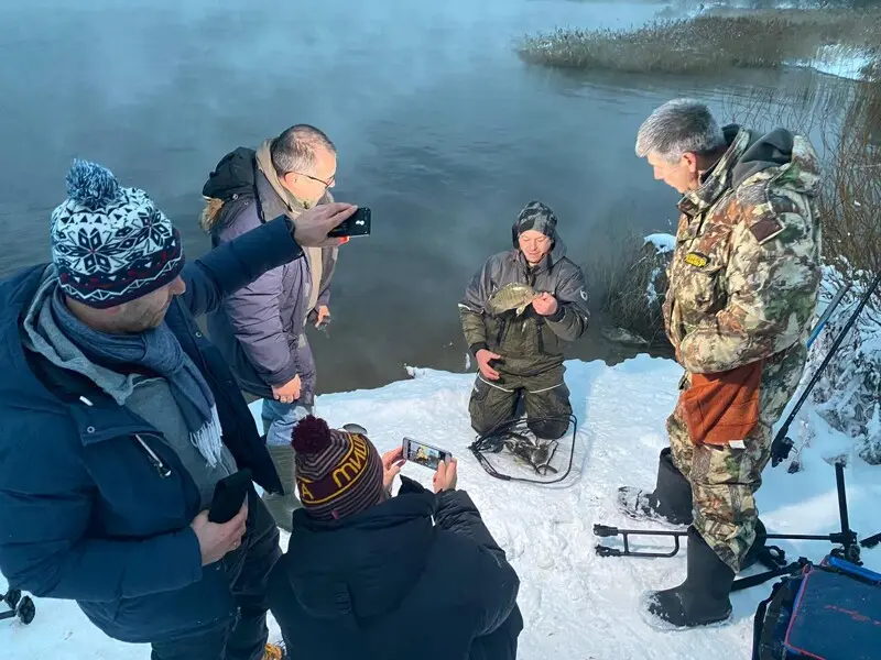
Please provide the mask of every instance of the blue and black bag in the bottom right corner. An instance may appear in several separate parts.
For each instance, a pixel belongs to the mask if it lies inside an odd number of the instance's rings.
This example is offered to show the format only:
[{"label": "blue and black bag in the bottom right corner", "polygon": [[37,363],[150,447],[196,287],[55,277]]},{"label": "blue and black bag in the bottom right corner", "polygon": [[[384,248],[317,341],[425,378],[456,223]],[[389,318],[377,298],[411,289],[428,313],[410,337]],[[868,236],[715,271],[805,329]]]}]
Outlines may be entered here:
[{"label": "blue and black bag in the bottom right corner", "polygon": [[881,574],[826,557],[777,582],[755,612],[752,660],[881,659]]}]

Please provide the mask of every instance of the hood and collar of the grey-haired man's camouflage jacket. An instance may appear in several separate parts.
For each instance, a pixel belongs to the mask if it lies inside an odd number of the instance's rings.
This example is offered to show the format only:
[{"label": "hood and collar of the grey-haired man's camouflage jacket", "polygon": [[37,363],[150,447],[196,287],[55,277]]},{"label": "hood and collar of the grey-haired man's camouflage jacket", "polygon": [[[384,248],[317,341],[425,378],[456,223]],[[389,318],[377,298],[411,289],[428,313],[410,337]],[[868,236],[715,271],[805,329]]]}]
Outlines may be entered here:
[{"label": "hood and collar of the grey-haired man's camouflage jacket", "polygon": [[769,182],[776,190],[788,190],[813,197],[819,185],[819,160],[807,138],[774,129],[759,135],[753,131],[729,124],[722,129],[728,151],[703,176],[697,190],[690,190],[679,201],[688,216],[706,210],[729,189],[737,189],[752,176],[776,168]]}]

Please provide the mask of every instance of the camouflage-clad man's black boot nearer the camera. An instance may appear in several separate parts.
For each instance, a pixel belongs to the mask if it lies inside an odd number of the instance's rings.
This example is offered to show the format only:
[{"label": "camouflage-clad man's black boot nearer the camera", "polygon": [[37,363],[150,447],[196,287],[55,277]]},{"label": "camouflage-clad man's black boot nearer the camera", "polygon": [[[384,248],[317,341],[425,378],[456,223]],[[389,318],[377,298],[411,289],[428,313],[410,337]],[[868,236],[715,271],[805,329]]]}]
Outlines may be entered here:
[{"label": "camouflage-clad man's black boot nearer the camera", "polygon": [[688,528],[688,575],[679,586],[649,592],[648,609],[664,627],[693,628],[731,616],[735,572],[700,537]]}]

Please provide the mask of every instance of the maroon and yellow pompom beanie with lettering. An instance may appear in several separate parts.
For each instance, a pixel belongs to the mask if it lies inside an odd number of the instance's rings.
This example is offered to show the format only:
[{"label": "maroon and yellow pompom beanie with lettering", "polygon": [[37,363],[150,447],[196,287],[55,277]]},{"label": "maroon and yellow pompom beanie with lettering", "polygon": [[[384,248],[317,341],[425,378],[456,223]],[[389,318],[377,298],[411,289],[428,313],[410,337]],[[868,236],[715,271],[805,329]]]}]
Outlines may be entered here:
[{"label": "maroon and yellow pompom beanie with lettering", "polygon": [[309,415],[291,444],[300,501],[313,518],[338,520],[382,499],[382,459],[367,436],[330,429]]}]

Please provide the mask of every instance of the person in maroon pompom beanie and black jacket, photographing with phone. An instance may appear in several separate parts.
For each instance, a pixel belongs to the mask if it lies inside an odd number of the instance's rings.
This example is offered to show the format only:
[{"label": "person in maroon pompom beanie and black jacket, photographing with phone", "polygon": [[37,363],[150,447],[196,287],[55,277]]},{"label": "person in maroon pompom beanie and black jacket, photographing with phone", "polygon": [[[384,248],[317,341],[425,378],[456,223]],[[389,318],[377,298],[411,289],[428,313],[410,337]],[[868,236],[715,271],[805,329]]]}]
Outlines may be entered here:
[{"label": "person in maroon pompom beanie and black jacket, photographing with phone", "polygon": [[404,476],[402,450],[309,416],[294,429],[302,509],[269,580],[292,658],[513,660],[520,580],[464,491],[456,462],[434,493]]}]

